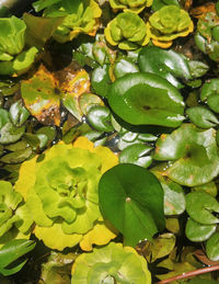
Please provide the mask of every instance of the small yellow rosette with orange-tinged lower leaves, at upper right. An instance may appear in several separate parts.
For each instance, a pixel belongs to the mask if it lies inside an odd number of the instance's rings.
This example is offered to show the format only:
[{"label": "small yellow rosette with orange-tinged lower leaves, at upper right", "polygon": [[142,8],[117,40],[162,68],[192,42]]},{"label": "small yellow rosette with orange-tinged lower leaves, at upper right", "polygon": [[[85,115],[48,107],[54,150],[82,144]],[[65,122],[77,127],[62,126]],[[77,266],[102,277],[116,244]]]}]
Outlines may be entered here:
[{"label": "small yellow rosette with orange-tinged lower leaves, at upper right", "polygon": [[149,18],[147,26],[152,43],[162,48],[170,47],[173,39],[186,36],[194,30],[188,13],[176,5],[165,5],[154,12]]}]

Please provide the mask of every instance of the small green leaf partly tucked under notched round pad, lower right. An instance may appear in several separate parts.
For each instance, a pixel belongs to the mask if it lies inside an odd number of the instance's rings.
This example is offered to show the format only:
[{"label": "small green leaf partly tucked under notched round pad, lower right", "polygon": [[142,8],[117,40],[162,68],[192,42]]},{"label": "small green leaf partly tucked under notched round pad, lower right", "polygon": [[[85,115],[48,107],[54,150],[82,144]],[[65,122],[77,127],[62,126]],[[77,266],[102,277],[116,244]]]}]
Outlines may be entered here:
[{"label": "small green leaf partly tucked under notched round pad, lower right", "polygon": [[205,241],[215,231],[217,225],[203,225],[189,218],[186,223],[185,235],[192,241]]}]

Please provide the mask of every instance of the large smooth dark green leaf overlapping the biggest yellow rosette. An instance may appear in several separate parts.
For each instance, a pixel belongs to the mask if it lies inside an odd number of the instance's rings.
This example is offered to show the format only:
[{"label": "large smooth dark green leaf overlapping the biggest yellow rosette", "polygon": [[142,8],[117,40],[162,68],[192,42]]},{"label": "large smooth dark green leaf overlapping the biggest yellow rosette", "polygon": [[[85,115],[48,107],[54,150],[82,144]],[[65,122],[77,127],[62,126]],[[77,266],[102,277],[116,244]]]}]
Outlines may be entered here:
[{"label": "large smooth dark green leaf overlapping the biggest yellow rosette", "polygon": [[105,172],[99,184],[100,208],[135,247],[164,228],[163,190],[159,180],[136,164],[118,164]]}]

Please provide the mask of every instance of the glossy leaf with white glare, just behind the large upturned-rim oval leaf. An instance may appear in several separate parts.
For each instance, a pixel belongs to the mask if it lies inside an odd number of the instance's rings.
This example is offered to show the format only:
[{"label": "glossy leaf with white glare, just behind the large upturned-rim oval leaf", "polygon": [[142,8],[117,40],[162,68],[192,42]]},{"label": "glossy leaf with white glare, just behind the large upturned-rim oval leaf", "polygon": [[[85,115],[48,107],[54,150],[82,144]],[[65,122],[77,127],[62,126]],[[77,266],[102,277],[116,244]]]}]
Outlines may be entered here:
[{"label": "glossy leaf with white glare, just behind the large upturned-rim oval leaf", "polygon": [[175,77],[192,79],[187,59],[171,49],[143,47],[139,53],[138,63],[142,72],[159,75],[176,88],[182,88],[183,84]]}]

